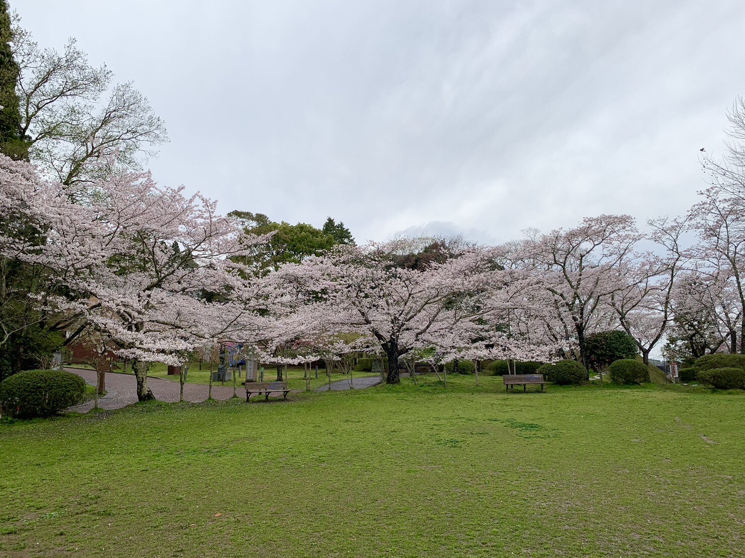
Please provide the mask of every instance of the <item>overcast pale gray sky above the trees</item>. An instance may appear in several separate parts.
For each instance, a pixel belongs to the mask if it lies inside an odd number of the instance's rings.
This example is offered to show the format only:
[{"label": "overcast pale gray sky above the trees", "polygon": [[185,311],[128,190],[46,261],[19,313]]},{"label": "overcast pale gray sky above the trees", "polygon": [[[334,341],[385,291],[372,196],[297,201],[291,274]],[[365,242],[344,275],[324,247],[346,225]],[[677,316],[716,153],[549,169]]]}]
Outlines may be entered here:
[{"label": "overcast pale gray sky above the trees", "polygon": [[10,3],[150,99],[158,182],[358,241],[682,213],[745,94],[742,0]]}]

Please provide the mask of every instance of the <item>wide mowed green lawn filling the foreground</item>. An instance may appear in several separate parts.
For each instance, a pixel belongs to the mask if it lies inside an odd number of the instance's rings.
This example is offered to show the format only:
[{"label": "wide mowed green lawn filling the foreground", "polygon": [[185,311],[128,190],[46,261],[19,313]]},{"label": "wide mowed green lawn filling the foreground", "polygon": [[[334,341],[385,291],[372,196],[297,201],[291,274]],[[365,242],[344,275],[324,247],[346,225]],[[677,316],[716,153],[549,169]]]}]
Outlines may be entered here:
[{"label": "wide mowed green lawn filling the foreground", "polygon": [[743,554],[745,394],[434,383],[0,425],[0,556]]}]

